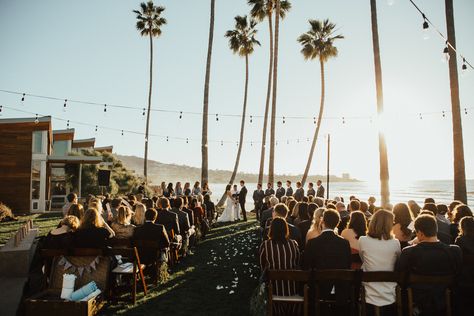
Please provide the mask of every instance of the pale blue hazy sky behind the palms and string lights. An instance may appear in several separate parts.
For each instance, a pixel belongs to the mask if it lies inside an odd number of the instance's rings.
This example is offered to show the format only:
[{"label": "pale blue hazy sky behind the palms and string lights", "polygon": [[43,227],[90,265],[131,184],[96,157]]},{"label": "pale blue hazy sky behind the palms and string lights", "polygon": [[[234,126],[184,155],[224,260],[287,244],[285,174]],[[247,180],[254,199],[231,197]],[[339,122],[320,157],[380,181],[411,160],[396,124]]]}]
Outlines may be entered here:
[{"label": "pale blue hazy sky behind the palms and string lights", "polygon": [[[434,30],[423,39],[421,15],[408,0],[395,4],[379,0],[378,20],[385,116],[392,181],[451,179],[453,176],[452,122],[448,65],[442,62],[444,42]],[[0,89],[61,99],[143,108],[149,84],[149,42],[135,29],[139,1],[6,1],[0,0]],[[428,18],[446,33],[443,0],[417,0]],[[155,109],[201,112],[209,31],[210,1],[160,0],[168,24],[154,40],[153,102]],[[330,19],[344,39],[335,45],[339,56],[326,65],[326,107],[311,174],[326,172],[326,135],[331,134],[331,174],[378,179],[375,75],[370,24],[370,2],[298,0],[281,23],[277,116],[309,119],[277,121],[275,170],[304,171],[320,98],[320,69],[305,61],[297,37],[309,28],[308,19]],[[474,2],[455,1],[458,50],[474,64]],[[237,152],[244,92],[244,59],[232,54],[224,33],[236,15],[248,14],[244,0],[217,0],[210,82],[209,167],[231,170]],[[268,73],[268,25],[258,25],[257,47],[250,56],[249,115],[263,115]],[[458,59],[459,69],[461,61]],[[474,178],[474,71],[460,76],[466,175]],[[0,105],[20,111],[88,123],[71,124],[76,138],[96,137],[96,146],[113,145],[114,152],[143,156],[141,110],[109,108],[27,97],[0,92]],[[2,118],[32,116],[3,108]],[[443,118],[442,111],[446,111]],[[464,111],[463,111],[464,112]],[[422,115],[419,113],[434,113]],[[343,120],[344,117],[344,120]],[[360,119],[358,117],[364,117]],[[345,123],[343,123],[343,121]],[[201,115],[152,112],[150,159],[201,165]],[[258,172],[263,119],[246,121],[239,170]],[[53,119],[53,129],[66,122]],[[170,139],[167,142],[166,136]],[[176,140],[182,138],[184,140]],[[189,142],[186,143],[186,138]],[[224,145],[221,146],[221,141]],[[268,158],[268,153],[267,153]],[[267,159],[268,160],[268,159]],[[268,163],[265,167],[268,170]],[[139,170],[137,170],[139,171]]]}]

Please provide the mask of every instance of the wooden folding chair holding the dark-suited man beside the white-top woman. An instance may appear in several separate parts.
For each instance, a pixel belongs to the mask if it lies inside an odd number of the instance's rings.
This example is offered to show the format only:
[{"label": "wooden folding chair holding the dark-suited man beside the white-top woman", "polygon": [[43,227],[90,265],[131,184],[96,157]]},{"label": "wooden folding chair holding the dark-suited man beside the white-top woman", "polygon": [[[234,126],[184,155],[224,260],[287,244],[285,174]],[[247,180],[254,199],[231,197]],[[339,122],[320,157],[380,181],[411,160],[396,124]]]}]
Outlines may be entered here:
[{"label": "wooden folding chair holding the dark-suited man beside the white-top woman", "polygon": [[[320,285],[324,283],[334,283],[337,291],[337,287],[342,284],[347,284],[349,291],[349,298],[345,300],[344,305],[350,306],[350,315],[354,315],[356,310],[356,298],[355,292],[356,287],[358,286],[357,271],[355,270],[315,270],[313,271],[313,281],[315,284],[315,304],[316,304],[316,314],[321,315],[321,305],[336,305],[338,302],[334,299],[327,299],[321,297]],[[337,285],[337,286],[336,286]]]}]

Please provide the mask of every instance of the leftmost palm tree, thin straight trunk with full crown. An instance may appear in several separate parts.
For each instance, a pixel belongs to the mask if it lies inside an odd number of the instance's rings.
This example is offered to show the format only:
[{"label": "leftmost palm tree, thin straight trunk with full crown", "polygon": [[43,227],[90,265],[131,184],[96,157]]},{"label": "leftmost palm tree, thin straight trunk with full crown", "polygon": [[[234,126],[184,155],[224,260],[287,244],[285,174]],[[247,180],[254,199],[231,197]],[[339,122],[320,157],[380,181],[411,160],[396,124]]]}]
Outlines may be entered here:
[{"label": "leftmost palm tree, thin straight trunk with full crown", "polygon": [[165,10],[162,6],[155,6],[153,1],[140,3],[140,10],[133,10],[137,15],[137,30],[141,36],[148,36],[150,39],[150,86],[148,88],[148,110],[146,116],[146,132],[145,132],[145,159],[143,164],[143,175],[147,183],[147,167],[148,167],[148,132],[150,128],[150,111],[151,111],[151,89],[153,82],[153,37],[161,35],[161,27],[166,24],[166,19],[161,17]]}]

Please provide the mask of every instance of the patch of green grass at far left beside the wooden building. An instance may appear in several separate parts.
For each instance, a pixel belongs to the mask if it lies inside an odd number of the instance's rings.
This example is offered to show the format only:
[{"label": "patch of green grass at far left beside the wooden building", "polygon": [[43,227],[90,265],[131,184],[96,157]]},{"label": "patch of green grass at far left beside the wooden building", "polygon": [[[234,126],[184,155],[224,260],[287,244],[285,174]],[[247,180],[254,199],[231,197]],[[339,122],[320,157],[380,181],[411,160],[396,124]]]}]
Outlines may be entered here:
[{"label": "patch of green grass at far left beside the wooden building", "polygon": [[55,228],[62,218],[62,214],[34,214],[28,216],[19,216],[18,221],[0,223],[0,247],[10,239],[27,220],[32,219],[33,225],[40,228],[40,236],[45,236],[48,232]]}]

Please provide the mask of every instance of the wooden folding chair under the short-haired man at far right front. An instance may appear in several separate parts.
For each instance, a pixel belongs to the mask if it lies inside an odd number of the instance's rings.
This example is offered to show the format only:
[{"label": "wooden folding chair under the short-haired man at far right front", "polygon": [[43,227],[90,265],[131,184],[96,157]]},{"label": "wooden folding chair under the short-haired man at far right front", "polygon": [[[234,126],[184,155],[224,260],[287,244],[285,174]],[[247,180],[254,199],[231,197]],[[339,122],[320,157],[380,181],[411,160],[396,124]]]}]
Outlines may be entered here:
[{"label": "wooden folding chair under the short-haired man at far right front", "polygon": [[409,274],[407,278],[407,296],[408,296],[408,316],[414,315],[413,308],[413,286],[414,285],[432,285],[432,286],[443,286],[445,290],[445,302],[446,302],[446,316],[451,316],[452,305],[451,305],[451,289],[454,285],[454,275],[420,275],[420,274]]}]

